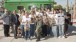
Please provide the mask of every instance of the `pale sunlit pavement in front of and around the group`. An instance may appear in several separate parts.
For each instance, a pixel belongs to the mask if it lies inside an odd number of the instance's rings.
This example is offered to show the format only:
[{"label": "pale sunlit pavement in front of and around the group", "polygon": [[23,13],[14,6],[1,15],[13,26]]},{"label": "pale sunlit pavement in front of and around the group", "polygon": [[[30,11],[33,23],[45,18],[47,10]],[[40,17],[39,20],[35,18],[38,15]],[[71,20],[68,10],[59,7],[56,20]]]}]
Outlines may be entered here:
[{"label": "pale sunlit pavement in front of and around the group", "polygon": [[[40,42],[76,42],[76,24],[69,26],[68,38],[53,38],[48,37],[47,39],[42,38]],[[25,40],[23,38],[14,39],[13,34],[11,37],[3,36],[3,26],[0,25],[0,42],[36,42],[36,39]]]}]

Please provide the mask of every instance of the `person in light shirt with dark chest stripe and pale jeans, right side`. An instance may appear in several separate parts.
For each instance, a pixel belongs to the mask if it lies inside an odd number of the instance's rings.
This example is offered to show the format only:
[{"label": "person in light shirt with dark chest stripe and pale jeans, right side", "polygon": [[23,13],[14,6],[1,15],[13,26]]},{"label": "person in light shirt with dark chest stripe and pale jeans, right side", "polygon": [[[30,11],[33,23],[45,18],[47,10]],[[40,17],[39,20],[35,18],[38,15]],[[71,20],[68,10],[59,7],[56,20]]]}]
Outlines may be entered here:
[{"label": "person in light shirt with dark chest stripe and pale jeans, right side", "polygon": [[65,24],[65,16],[62,10],[59,10],[60,13],[58,15],[58,27],[59,27],[59,38],[64,38],[64,24]]}]

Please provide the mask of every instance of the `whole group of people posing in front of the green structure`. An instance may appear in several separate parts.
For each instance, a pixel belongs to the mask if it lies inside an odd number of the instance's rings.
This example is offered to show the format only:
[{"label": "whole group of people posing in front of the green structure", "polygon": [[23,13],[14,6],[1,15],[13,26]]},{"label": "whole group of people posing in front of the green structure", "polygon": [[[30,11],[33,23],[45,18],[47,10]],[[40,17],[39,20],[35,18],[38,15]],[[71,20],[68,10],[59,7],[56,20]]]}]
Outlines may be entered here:
[{"label": "whole group of people posing in front of the green structure", "polygon": [[14,38],[17,39],[18,34],[21,34],[25,39],[36,37],[37,41],[47,36],[66,38],[70,23],[70,15],[65,15],[62,9],[50,11],[50,9],[33,8],[29,12],[27,10],[10,12],[5,9],[2,19],[4,36],[10,36],[11,28]]}]

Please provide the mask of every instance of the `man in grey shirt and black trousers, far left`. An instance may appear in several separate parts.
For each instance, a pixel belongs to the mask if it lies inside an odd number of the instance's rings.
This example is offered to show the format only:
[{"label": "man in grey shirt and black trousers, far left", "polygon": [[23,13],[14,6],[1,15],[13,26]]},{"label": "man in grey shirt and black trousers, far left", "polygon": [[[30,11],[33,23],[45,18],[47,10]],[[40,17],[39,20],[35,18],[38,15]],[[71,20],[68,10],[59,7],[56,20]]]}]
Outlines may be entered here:
[{"label": "man in grey shirt and black trousers, far left", "polygon": [[4,26],[4,36],[8,37],[8,36],[10,36],[9,35],[10,16],[6,9],[5,9],[5,13],[2,16],[2,19],[3,19],[3,26]]}]

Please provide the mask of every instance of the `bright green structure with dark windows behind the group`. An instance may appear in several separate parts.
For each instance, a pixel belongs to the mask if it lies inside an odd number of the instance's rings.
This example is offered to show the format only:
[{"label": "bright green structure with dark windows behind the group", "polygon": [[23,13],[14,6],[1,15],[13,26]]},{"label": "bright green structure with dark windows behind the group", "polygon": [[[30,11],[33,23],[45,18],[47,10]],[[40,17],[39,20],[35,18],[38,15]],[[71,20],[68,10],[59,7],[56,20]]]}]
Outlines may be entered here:
[{"label": "bright green structure with dark windows behind the group", "polygon": [[29,10],[31,7],[51,9],[52,0],[5,0],[4,7],[11,11],[22,10],[24,8]]}]

